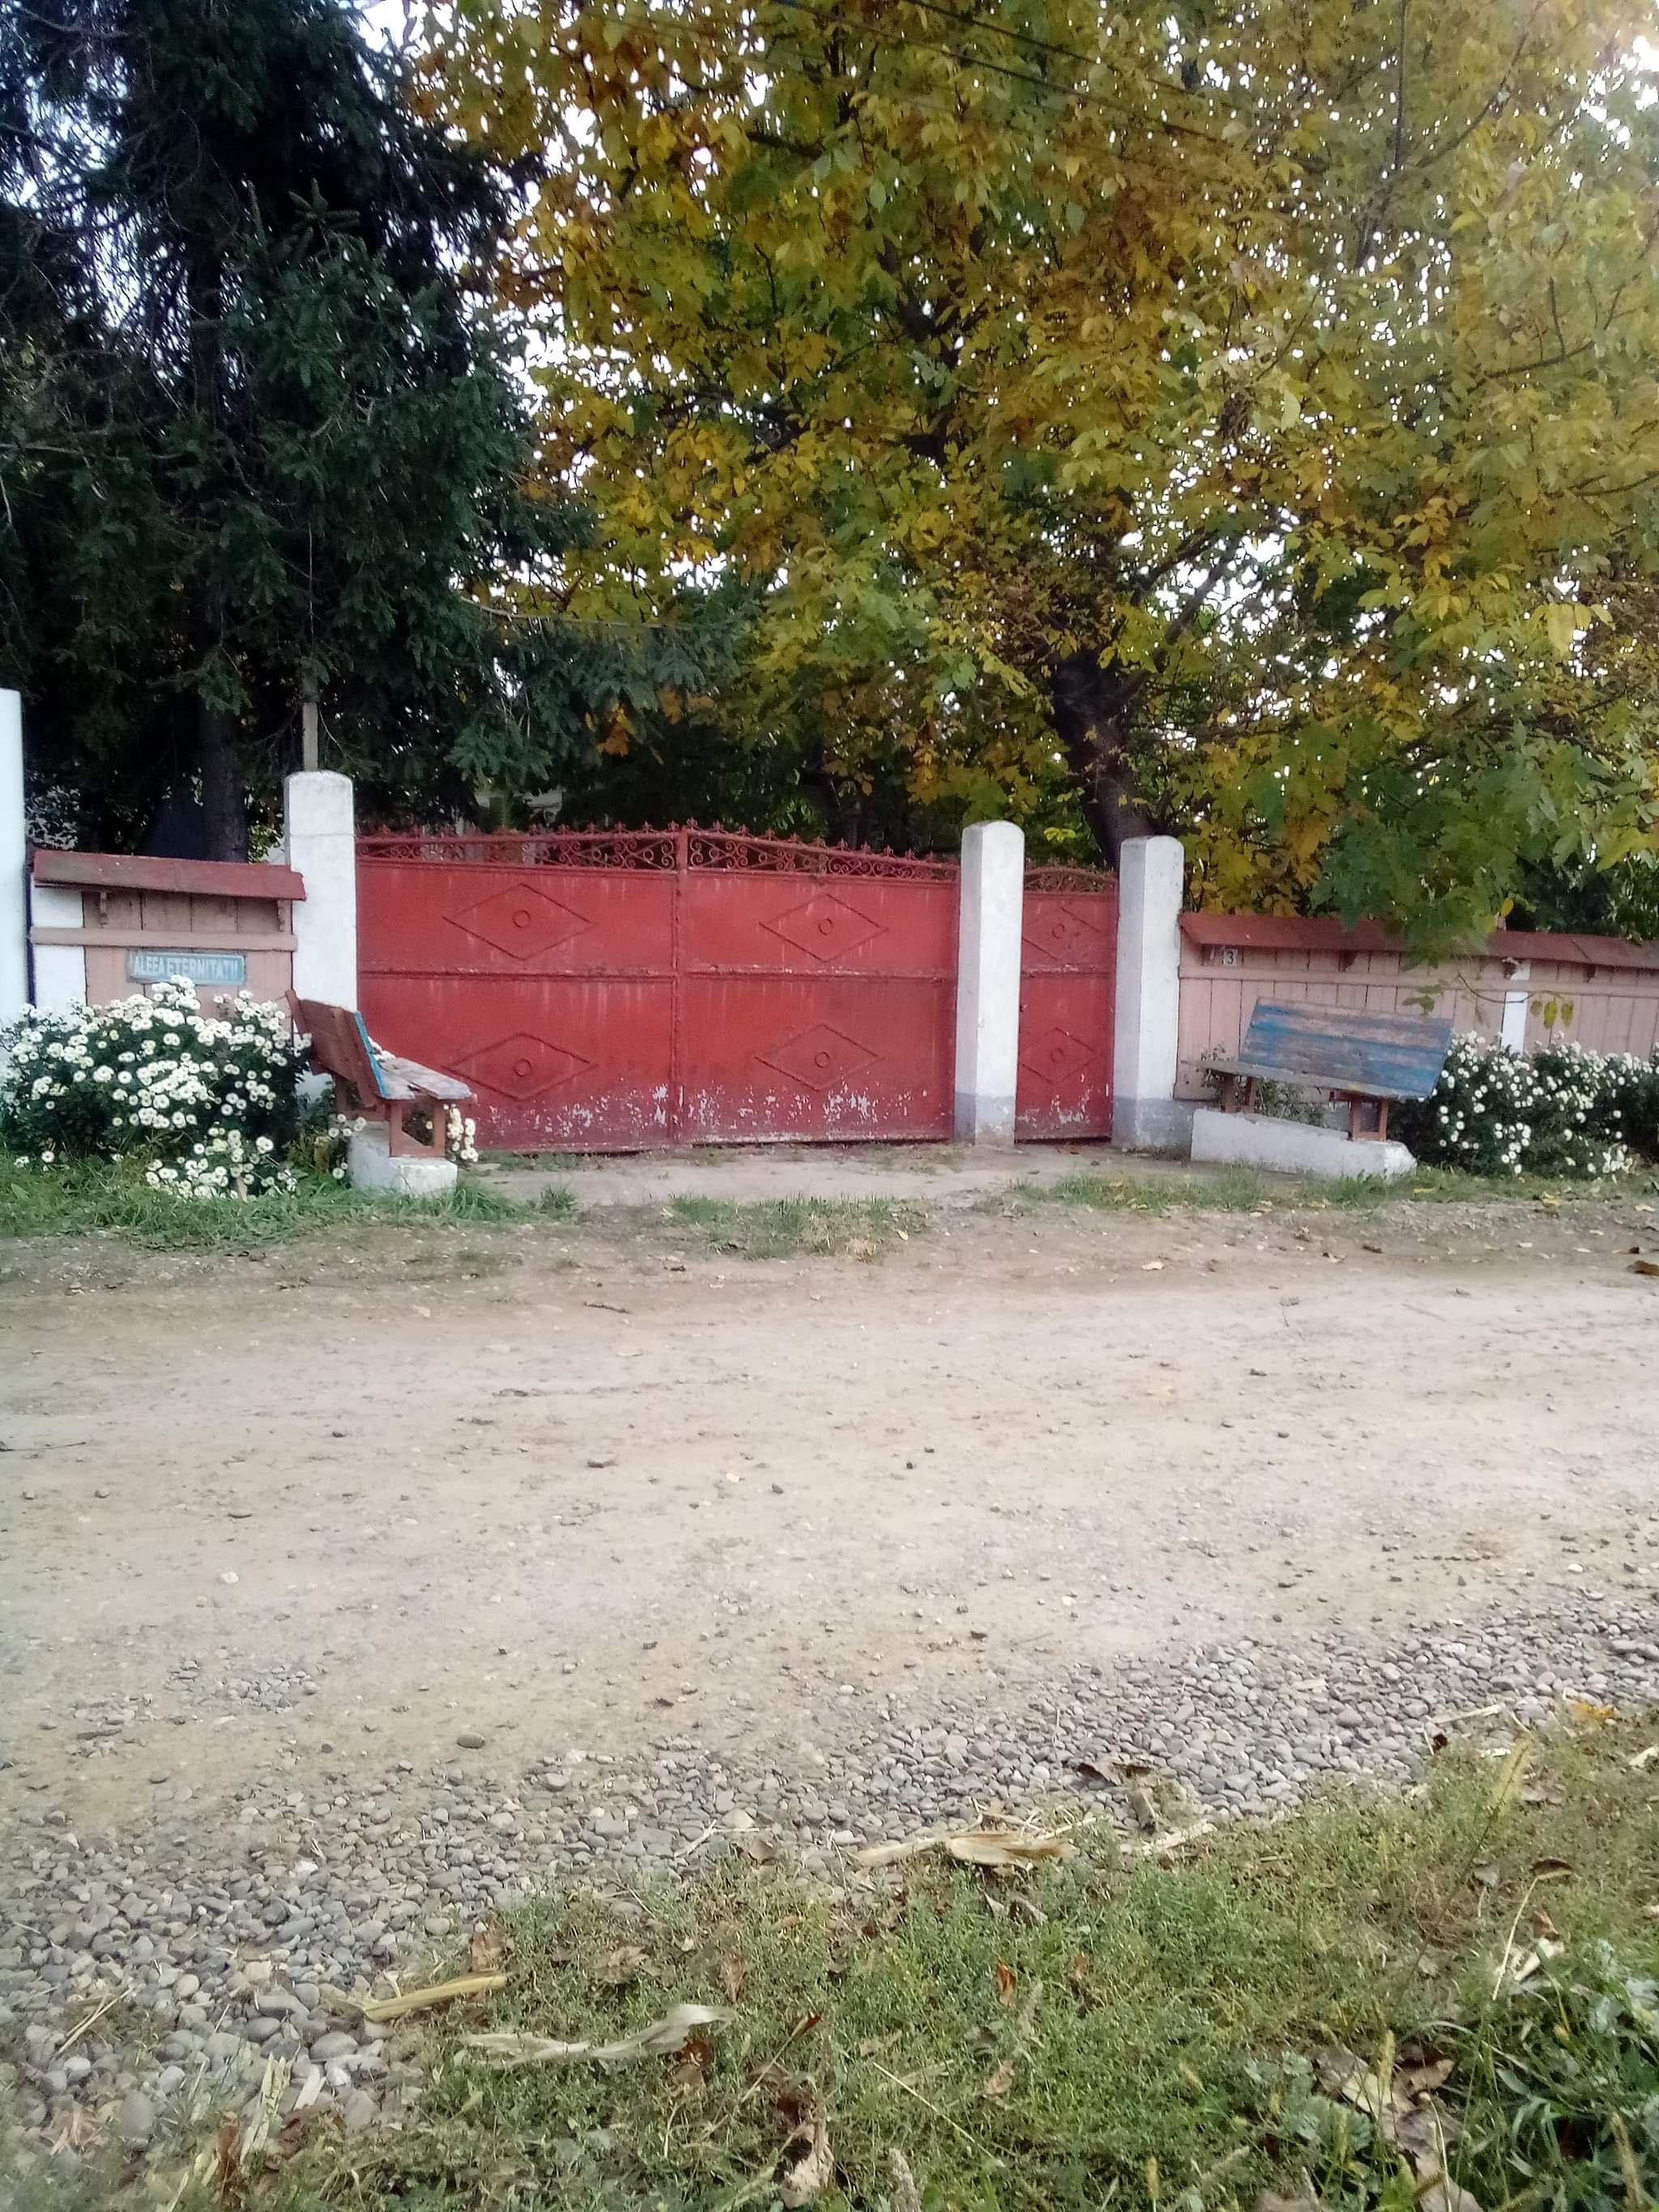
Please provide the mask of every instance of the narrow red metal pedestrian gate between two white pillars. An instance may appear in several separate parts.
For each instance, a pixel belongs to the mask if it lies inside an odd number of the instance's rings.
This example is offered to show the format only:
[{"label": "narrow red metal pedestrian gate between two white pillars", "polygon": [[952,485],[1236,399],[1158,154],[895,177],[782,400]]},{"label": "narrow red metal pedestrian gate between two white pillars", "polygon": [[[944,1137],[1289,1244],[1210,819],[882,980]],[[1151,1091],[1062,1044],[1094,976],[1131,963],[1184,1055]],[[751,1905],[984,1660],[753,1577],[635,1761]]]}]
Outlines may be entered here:
[{"label": "narrow red metal pedestrian gate between two white pillars", "polygon": [[1026,872],[1015,1137],[1110,1137],[1117,883]]}]

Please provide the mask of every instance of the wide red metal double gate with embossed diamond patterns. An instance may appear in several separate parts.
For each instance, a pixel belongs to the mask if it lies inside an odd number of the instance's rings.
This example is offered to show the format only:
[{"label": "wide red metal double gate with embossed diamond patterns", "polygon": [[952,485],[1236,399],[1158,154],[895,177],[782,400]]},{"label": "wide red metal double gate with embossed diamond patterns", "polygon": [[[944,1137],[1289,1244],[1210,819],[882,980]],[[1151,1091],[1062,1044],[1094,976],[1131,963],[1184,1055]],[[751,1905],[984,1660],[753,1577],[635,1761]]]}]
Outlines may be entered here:
[{"label": "wide red metal double gate with embossed diamond patterns", "polygon": [[728,832],[358,841],[363,1018],[482,1144],[949,1137],[958,872]]}]

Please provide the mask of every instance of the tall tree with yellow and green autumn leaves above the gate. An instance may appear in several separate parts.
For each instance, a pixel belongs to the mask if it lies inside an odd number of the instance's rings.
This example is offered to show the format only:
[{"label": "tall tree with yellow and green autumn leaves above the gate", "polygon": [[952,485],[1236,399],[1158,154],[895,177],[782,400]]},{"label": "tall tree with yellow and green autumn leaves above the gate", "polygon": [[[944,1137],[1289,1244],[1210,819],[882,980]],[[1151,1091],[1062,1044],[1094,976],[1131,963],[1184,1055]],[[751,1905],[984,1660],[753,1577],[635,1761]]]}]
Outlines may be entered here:
[{"label": "tall tree with yellow and green autumn leaves above the gate", "polygon": [[[1657,818],[1637,0],[462,0],[588,604],[726,573],[1212,900],[1473,927]],[[1595,633],[1595,635],[1590,635]],[[973,763],[969,763],[973,765]],[[984,761],[978,763],[980,787]]]}]

